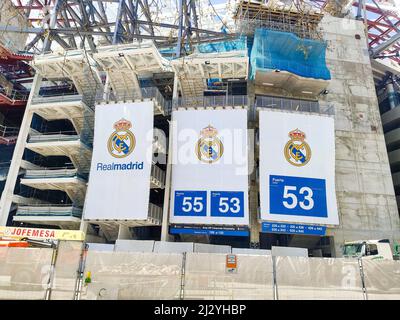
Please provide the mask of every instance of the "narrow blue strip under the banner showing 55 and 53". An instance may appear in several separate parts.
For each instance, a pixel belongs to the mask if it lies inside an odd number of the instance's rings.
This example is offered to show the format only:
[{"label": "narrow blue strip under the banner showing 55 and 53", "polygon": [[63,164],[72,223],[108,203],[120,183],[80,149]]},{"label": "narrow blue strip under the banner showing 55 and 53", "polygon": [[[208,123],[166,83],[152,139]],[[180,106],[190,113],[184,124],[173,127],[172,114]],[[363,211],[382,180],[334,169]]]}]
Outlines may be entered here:
[{"label": "narrow blue strip under the banner showing 55 and 53", "polygon": [[211,236],[250,236],[247,227],[224,227],[224,226],[195,226],[195,225],[171,225],[169,227],[170,234],[196,234]]}]

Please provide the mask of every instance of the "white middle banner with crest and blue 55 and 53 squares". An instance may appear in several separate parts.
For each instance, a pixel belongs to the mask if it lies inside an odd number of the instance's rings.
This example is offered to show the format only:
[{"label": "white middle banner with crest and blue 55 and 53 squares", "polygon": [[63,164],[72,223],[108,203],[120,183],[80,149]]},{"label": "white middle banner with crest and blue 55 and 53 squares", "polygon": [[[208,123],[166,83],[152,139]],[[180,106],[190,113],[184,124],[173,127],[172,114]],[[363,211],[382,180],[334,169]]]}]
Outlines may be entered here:
[{"label": "white middle banner with crest and blue 55 and 53 squares", "polygon": [[170,222],[248,225],[247,110],[174,111]]}]

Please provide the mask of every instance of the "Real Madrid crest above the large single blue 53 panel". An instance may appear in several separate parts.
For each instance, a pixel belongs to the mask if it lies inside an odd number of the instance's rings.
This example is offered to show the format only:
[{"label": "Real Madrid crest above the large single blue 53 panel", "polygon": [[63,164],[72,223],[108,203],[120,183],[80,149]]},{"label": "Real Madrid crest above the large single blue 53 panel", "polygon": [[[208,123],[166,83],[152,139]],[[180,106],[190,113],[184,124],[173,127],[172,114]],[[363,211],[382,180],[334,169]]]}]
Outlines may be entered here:
[{"label": "Real Madrid crest above the large single blue 53 panel", "polygon": [[306,134],[299,129],[289,132],[290,140],[285,145],[286,160],[297,167],[306,165],[311,159],[311,149],[304,141]]}]

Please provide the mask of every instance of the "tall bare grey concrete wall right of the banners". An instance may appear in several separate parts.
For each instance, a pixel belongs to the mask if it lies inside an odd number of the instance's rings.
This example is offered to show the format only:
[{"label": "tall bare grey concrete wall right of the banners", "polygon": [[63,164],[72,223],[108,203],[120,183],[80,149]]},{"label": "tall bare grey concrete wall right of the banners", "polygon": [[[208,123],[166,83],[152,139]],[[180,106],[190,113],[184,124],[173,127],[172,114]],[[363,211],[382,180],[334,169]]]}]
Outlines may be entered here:
[{"label": "tall bare grey concrete wall right of the banners", "polygon": [[326,16],[322,28],[332,80],[320,104],[335,108],[340,219],[340,226],[328,233],[334,236],[340,256],[345,240],[400,240],[400,221],[364,26],[360,21]]}]

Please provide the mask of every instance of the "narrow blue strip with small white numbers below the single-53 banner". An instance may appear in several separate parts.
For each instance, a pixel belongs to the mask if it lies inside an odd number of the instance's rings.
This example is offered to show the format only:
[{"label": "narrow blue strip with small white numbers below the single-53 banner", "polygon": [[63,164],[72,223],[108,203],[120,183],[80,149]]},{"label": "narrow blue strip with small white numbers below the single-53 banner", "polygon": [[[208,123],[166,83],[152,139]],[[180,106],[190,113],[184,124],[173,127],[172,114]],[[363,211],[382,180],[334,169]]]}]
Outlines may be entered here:
[{"label": "narrow blue strip with small white numbers below the single-53 banner", "polygon": [[261,224],[261,232],[324,236],[326,233],[326,227],[305,224],[263,222]]}]

